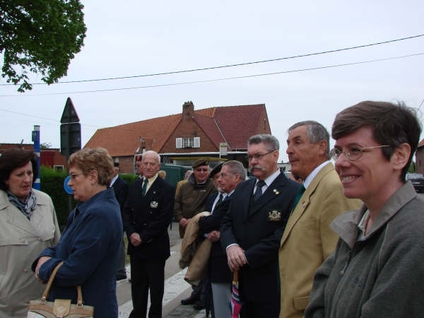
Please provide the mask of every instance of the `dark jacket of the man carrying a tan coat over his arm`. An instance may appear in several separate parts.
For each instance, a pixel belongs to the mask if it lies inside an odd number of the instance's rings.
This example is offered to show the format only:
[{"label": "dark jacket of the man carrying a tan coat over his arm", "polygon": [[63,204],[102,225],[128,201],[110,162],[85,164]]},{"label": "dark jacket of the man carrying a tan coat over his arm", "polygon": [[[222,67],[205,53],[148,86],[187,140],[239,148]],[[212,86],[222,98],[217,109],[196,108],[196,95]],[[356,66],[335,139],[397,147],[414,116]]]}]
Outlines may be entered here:
[{"label": "dark jacket of the man carrying a tan coat over his arm", "polygon": [[[210,216],[204,216],[199,219],[199,232],[208,233],[220,229],[221,221],[230,207],[230,200],[231,196],[225,196],[222,204]],[[211,283],[231,283],[232,281],[232,273],[227,264],[227,254],[221,247],[220,241],[212,243],[208,263],[208,276]]]}]

